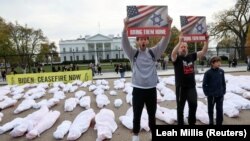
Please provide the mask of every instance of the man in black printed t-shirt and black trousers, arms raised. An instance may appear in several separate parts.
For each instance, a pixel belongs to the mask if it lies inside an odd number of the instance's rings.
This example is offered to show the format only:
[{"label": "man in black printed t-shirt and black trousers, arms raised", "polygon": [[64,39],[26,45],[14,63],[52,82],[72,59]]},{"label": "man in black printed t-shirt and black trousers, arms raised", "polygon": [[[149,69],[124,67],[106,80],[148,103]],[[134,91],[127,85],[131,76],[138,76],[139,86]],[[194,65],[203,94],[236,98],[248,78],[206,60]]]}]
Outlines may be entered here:
[{"label": "man in black printed t-shirt and black trousers, arms raised", "polygon": [[201,51],[188,54],[188,44],[183,42],[182,33],[179,42],[174,47],[171,58],[175,71],[177,121],[178,125],[184,124],[183,111],[186,101],[189,106],[188,123],[194,125],[196,122],[197,92],[195,88],[194,61],[202,58],[208,49],[208,36]]}]

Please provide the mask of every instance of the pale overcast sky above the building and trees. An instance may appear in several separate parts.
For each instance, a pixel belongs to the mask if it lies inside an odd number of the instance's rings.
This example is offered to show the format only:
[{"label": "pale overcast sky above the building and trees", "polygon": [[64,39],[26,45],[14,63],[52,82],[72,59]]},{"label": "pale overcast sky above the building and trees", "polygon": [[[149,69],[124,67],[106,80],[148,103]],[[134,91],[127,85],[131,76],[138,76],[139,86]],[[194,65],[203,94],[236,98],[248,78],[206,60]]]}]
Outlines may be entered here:
[{"label": "pale overcast sky above the building and trees", "polygon": [[6,22],[41,29],[50,42],[85,35],[121,35],[127,5],[167,5],[173,25],[180,29],[180,15],[213,15],[234,6],[236,0],[0,0]]}]

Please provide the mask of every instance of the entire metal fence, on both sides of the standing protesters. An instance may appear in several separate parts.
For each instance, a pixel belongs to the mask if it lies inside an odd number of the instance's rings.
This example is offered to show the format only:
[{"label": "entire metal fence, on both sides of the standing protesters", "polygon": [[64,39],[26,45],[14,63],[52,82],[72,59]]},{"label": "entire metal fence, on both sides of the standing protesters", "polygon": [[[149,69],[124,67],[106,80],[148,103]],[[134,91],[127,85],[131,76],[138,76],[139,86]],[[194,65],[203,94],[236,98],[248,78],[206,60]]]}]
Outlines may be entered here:
[{"label": "entire metal fence, on both sides of the standing protesters", "polygon": [[[238,48],[213,48],[209,47],[206,54],[206,59],[212,56],[221,56],[223,60],[237,59],[245,61],[250,55],[250,47]],[[161,60],[160,60],[161,61]],[[39,67],[43,68],[40,71],[53,71],[53,67],[68,66],[79,69],[87,69],[90,63],[114,65],[118,63],[128,63],[123,50],[105,50],[105,51],[84,51],[84,52],[62,52],[62,53],[47,53],[47,54],[21,54],[21,55],[2,55],[0,56],[1,71],[11,72],[14,68],[17,73],[32,73],[39,72]],[[61,68],[62,69],[62,68]]]}]

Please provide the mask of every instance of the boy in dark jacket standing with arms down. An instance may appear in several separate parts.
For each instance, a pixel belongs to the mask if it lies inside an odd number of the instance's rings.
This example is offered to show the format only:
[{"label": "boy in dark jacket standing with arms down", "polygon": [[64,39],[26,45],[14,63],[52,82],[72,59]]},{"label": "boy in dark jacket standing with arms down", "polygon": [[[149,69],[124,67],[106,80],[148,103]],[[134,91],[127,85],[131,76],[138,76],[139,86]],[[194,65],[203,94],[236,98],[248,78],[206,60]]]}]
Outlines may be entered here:
[{"label": "boy in dark jacket standing with arms down", "polygon": [[213,57],[210,61],[211,68],[203,78],[203,92],[207,96],[209,125],[214,124],[214,105],[216,104],[216,125],[223,122],[223,101],[226,93],[224,70],[220,68],[220,57]]}]

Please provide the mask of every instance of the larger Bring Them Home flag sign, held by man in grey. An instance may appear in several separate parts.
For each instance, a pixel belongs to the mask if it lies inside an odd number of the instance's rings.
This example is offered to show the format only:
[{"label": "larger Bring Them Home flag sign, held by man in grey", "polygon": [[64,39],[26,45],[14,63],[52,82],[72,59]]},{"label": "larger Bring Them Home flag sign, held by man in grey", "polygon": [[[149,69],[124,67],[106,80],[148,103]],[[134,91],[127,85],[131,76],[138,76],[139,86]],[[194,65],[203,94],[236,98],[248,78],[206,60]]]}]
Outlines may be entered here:
[{"label": "larger Bring Them Home flag sign, held by man in grey", "polygon": [[167,6],[127,6],[128,36],[166,36]]}]

